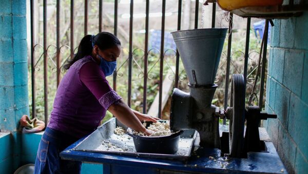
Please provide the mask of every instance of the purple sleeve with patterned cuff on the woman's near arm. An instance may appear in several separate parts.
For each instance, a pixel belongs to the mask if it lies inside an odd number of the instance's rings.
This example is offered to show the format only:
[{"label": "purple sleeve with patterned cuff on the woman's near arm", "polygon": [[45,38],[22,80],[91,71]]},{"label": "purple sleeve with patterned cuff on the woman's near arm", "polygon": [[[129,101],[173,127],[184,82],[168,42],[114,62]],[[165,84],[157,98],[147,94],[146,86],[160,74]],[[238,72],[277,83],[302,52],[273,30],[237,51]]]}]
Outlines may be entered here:
[{"label": "purple sleeve with patterned cuff on the woman's near arm", "polygon": [[80,80],[107,110],[113,103],[119,101],[121,96],[109,86],[104,72],[94,62],[85,63],[80,68]]}]

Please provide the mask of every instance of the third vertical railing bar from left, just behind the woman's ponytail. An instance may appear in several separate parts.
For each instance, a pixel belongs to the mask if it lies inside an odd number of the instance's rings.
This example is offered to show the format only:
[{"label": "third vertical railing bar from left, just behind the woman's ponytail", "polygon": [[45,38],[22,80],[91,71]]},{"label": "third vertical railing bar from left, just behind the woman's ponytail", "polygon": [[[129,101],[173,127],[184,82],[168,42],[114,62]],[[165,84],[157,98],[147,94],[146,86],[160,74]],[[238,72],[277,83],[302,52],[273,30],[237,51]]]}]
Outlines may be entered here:
[{"label": "third vertical railing bar from left, just behind the woman's ponytail", "polygon": [[61,80],[60,70],[60,0],[56,1],[56,86],[58,87]]}]

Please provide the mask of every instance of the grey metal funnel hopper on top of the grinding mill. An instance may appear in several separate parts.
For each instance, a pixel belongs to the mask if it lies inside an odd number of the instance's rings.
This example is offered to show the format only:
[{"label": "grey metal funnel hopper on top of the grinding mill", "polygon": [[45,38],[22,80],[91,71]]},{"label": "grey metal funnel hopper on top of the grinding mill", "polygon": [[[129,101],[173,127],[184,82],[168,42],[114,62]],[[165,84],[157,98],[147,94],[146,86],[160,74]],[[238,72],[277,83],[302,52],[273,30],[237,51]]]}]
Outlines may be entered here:
[{"label": "grey metal funnel hopper on top of the grinding mill", "polygon": [[214,84],[227,28],[172,32],[190,85]]}]

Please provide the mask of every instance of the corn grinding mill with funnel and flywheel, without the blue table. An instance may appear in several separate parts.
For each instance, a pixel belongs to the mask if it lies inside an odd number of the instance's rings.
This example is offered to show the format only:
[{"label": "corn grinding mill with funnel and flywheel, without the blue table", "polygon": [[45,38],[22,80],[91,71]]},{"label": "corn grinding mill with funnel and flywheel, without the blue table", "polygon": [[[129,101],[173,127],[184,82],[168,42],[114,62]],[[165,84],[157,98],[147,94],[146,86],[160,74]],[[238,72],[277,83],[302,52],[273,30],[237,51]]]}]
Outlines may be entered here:
[{"label": "corn grinding mill with funnel and flywheel, without the blue table", "polygon": [[[245,157],[248,151],[262,151],[259,139],[260,120],[277,118],[261,113],[258,106],[245,110],[245,80],[233,74],[230,107],[225,111],[211,105],[217,85],[214,84],[227,28],[196,29],[172,33],[186,70],[190,93],[175,88],[172,93],[170,126],[173,130],[196,129],[202,147],[222,148],[231,157]],[[229,145],[221,144],[219,119],[227,118]],[[244,124],[247,128],[244,140]],[[225,141],[228,143],[228,141]]]}]

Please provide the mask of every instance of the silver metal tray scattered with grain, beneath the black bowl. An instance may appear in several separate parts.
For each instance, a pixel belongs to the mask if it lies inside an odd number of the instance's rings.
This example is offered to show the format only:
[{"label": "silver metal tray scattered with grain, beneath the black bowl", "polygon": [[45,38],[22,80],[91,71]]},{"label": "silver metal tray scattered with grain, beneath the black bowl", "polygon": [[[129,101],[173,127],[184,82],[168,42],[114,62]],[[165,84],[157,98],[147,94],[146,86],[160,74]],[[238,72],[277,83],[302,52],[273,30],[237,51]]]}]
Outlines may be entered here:
[{"label": "silver metal tray scattered with grain, beneath the black bowl", "polygon": [[191,156],[192,147],[194,146],[197,136],[196,130],[185,130],[181,134],[179,150],[175,154],[140,153],[136,152],[133,140],[128,134],[125,133],[123,136],[118,136],[113,133],[117,126],[127,129],[127,127],[117,121],[117,119],[112,118],[92,132],[73,150],[185,161]]}]

